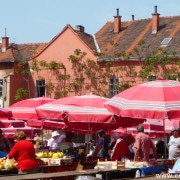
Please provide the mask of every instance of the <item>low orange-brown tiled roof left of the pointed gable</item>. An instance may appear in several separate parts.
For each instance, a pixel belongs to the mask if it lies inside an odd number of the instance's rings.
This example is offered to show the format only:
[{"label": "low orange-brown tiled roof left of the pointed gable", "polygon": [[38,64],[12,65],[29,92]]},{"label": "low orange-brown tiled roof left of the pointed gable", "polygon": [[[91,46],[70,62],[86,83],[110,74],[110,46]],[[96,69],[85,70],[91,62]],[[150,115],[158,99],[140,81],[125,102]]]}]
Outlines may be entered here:
[{"label": "low orange-brown tiled roof left of the pointed gable", "polygon": [[47,44],[10,44],[5,52],[2,52],[0,45],[0,62],[25,61],[41,51]]}]

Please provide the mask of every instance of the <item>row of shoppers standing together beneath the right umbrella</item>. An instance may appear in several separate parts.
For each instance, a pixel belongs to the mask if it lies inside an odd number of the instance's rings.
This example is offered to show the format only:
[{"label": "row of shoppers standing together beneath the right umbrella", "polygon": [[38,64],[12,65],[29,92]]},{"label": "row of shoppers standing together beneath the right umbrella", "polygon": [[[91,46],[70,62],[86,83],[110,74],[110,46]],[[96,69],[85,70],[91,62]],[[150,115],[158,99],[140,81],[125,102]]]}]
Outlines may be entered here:
[{"label": "row of shoppers standing together beneath the right umbrella", "polygon": [[108,158],[110,160],[122,161],[125,159],[133,161],[146,161],[150,159],[167,158],[169,160],[180,157],[180,129],[173,128],[167,145],[163,139],[156,143],[152,141],[150,135],[144,132],[142,124],[137,126],[137,135],[119,133],[112,135],[113,141],[107,139],[104,130],[97,132],[97,143],[92,156],[98,158]]}]

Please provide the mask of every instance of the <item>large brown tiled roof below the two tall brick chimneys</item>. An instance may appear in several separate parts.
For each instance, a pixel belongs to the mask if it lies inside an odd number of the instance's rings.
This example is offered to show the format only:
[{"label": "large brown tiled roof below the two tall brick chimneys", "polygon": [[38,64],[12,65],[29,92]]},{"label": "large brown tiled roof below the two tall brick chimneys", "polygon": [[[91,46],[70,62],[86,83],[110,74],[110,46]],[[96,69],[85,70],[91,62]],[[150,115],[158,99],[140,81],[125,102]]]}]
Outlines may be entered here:
[{"label": "large brown tiled roof below the two tall brick chimneys", "polygon": [[[148,48],[144,48],[141,56],[146,57],[152,50],[161,46],[164,38],[172,38],[166,47],[168,52],[175,51],[180,57],[180,16],[160,17],[159,29],[152,34],[152,19],[141,19],[121,22],[121,31],[113,32],[114,22],[107,22],[96,34],[96,41],[101,53],[112,57],[114,51],[132,52],[139,41],[144,40]],[[116,48],[110,42],[117,43]]]}]

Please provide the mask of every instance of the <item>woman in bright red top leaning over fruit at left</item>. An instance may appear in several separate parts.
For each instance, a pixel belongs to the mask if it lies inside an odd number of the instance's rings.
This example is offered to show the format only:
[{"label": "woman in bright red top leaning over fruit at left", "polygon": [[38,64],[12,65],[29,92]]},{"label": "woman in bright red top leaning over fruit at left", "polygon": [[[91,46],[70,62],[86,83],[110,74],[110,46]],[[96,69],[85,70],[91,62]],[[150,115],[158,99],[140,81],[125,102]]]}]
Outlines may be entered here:
[{"label": "woman in bright red top leaning over fruit at left", "polygon": [[17,131],[14,134],[14,140],[16,143],[7,155],[7,158],[14,158],[17,161],[18,174],[37,173],[39,165],[33,143],[26,140],[26,135],[23,131]]}]

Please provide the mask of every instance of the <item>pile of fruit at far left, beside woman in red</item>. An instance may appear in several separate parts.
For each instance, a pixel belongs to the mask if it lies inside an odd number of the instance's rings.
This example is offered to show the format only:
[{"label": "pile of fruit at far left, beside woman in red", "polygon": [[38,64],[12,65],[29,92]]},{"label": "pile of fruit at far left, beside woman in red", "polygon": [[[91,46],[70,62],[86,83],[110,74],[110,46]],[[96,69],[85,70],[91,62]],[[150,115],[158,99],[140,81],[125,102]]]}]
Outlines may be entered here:
[{"label": "pile of fruit at far left, beside woman in red", "polygon": [[0,170],[16,169],[17,162],[14,159],[7,159],[6,157],[0,158]]}]

